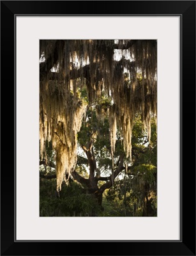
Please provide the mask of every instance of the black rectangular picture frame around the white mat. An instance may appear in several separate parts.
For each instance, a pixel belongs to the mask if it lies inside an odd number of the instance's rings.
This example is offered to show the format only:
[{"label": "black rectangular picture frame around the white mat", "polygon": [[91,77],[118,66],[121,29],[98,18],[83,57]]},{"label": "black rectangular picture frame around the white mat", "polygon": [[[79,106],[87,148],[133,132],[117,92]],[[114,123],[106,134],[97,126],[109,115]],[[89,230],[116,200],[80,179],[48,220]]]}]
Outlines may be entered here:
[{"label": "black rectangular picture frame around the white mat", "polygon": [[[15,16],[62,14],[181,17],[180,241],[15,241]],[[195,255],[195,1],[1,1],[1,255]]]}]

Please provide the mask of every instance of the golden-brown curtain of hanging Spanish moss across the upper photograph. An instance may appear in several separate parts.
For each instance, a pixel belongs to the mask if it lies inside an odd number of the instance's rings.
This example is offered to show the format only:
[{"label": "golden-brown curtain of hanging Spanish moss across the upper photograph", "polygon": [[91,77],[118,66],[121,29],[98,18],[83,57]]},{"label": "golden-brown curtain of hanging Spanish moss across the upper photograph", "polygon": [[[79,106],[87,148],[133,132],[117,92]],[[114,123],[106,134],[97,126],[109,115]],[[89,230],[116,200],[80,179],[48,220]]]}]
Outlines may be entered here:
[{"label": "golden-brown curtain of hanging Spanish moss across the upper photograph", "polygon": [[[114,49],[119,60],[114,58]],[[40,154],[43,157],[45,141],[52,141],[57,189],[75,167],[77,132],[87,102],[93,106],[103,90],[112,104],[107,109],[100,105],[97,114],[99,119],[109,116],[112,155],[119,129],[126,157],[131,159],[137,112],[142,113],[150,140],[157,100],[156,40],[41,40],[41,54],[45,61],[40,63]],[[50,72],[52,68],[55,72]],[[87,100],[80,99],[84,85]]]}]

